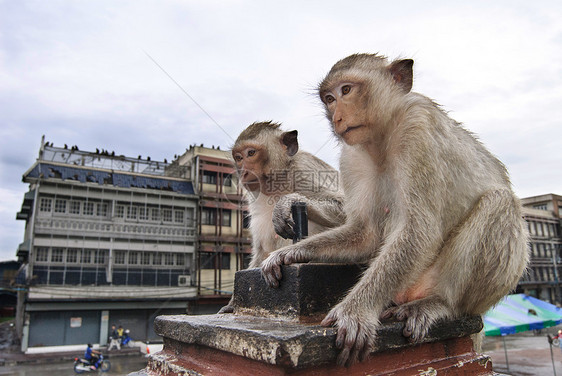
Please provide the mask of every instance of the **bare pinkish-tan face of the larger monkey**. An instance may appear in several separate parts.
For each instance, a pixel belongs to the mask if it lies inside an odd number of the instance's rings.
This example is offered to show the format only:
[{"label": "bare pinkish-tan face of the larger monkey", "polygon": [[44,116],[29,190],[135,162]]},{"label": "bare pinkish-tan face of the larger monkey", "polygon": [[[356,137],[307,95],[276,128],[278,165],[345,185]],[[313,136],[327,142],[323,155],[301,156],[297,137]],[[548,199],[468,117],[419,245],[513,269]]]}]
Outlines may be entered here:
[{"label": "bare pinkish-tan face of the larger monkey", "polygon": [[360,82],[345,80],[320,92],[334,133],[348,145],[363,144],[369,140],[368,97],[363,87]]}]

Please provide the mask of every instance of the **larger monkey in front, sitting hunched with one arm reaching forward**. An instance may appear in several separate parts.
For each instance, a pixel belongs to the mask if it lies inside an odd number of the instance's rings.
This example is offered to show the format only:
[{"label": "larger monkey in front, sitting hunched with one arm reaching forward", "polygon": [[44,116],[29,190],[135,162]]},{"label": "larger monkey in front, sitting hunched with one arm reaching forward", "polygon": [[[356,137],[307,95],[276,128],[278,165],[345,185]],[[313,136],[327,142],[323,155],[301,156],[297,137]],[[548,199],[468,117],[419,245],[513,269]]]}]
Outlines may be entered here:
[{"label": "larger monkey in front, sitting hunched with one arm reaching forward", "polygon": [[262,263],[272,287],[282,264],[367,263],[321,322],[337,328],[339,365],[369,356],[381,320],[404,321],[403,335],[419,343],[439,320],[484,314],[529,260],[506,167],[411,91],[413,63],[355,54],[331,68],[318,94],[341,142],[346,222]]}]

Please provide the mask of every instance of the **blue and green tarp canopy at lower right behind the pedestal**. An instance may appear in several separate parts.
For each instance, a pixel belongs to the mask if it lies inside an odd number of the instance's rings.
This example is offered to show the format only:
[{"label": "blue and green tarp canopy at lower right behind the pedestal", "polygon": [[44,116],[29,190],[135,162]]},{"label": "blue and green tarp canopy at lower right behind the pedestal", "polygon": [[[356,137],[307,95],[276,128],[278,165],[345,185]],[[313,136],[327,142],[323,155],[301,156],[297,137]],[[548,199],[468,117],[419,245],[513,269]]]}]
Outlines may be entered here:
[{"label": "blue and green tarp canopy at lower right behind the pedestal", "polygon": [[508,295],[484,315],[487,336],[505,336],[562,322],[562,309],[525,294]]}]

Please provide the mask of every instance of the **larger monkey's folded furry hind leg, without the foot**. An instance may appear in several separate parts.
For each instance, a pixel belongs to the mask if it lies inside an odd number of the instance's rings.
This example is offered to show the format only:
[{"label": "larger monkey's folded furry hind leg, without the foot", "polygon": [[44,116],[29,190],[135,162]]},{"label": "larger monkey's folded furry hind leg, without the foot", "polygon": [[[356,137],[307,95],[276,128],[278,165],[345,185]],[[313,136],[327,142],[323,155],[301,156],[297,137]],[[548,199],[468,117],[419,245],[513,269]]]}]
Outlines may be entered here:
[{"label": "larger monkey's folded furry hind leg, without the foot", "polygon": [[446,240],[434,293],[456,314],[484,314],[519,281],[529,259],[527,236],[511,190],[486,192]]}]

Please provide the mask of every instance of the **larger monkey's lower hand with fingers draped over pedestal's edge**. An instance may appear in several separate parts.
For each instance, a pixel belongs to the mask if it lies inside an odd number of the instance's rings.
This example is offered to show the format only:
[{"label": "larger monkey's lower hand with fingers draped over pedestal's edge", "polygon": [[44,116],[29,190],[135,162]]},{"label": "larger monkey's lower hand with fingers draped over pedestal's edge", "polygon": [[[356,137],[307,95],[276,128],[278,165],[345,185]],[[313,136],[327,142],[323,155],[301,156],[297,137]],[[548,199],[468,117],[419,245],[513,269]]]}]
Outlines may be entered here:
[{"label": "larger monkey's lower hand with fingers draped over pedestal's edge", "polygon": [[337,360],[340,366],[363,361],[374,350],[379,322],[363,308],[361,304],[344,300],[322,320],[321,325],[338,328],[336,347],[341,349]]}]

